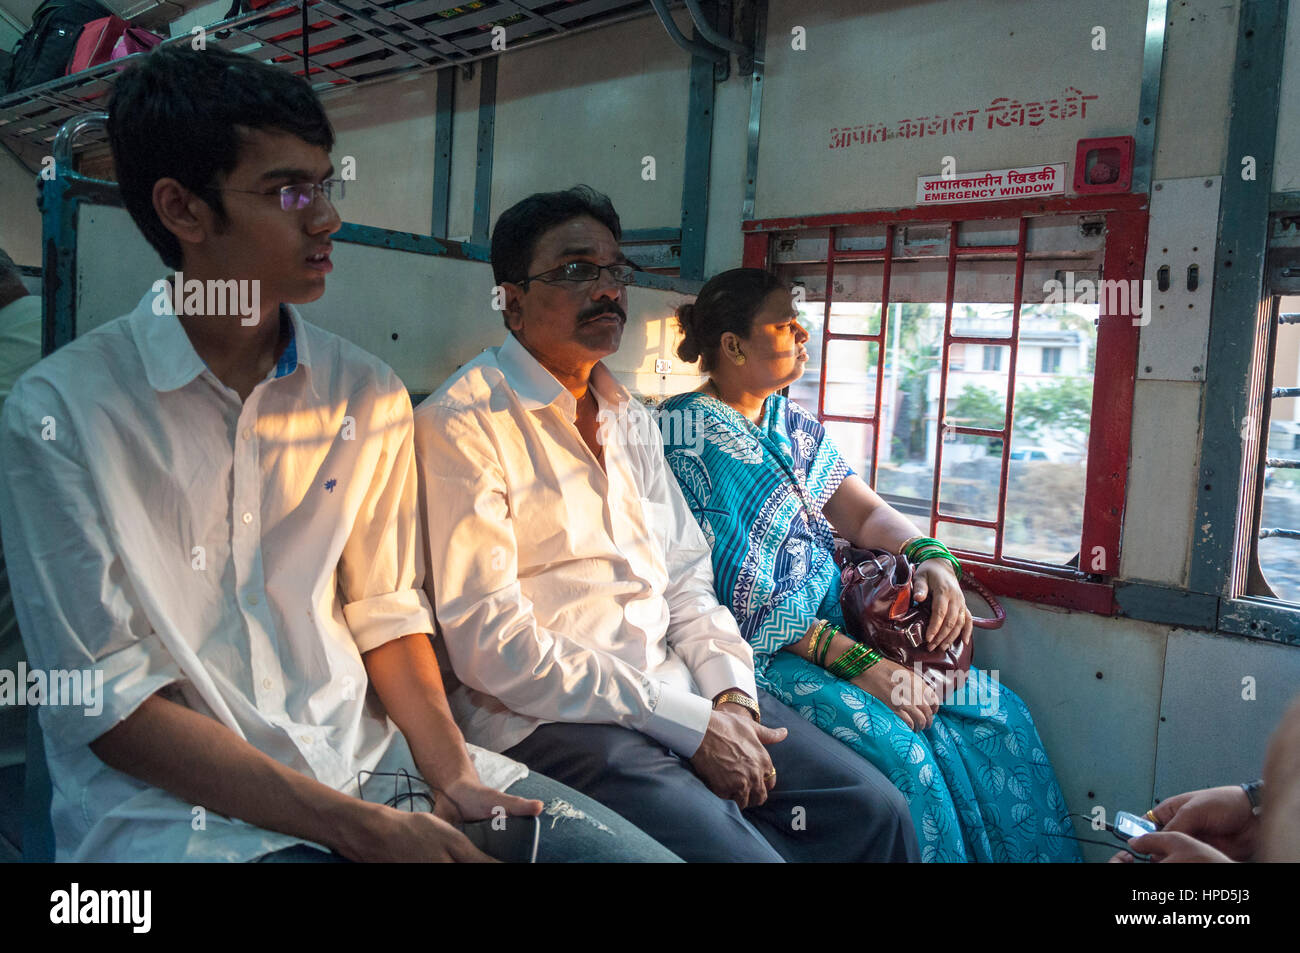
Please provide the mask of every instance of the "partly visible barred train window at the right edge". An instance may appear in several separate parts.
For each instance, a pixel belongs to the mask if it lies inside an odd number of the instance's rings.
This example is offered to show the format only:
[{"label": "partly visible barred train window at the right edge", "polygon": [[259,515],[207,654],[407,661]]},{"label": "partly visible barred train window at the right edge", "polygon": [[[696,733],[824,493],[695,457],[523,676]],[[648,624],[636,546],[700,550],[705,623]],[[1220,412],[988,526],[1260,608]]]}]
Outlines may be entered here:
[{"label": "partly visible barred train window at the right edge", "polygon": [[1300,298],[1273,298],[1271,316],[1247,592],[1300,602]]}]

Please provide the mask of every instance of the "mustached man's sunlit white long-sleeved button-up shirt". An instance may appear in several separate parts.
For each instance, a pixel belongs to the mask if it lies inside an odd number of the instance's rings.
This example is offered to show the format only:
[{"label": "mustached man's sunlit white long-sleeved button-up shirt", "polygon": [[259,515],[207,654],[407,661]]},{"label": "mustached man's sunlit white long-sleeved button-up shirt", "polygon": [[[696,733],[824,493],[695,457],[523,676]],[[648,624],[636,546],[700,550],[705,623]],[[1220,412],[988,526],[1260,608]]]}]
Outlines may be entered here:
[{"label": "mustached man's sunlit white long-sleeved button-up shirt", "polygon": [[604,469],[573,395],[514,335],[416,410],[425,589],[463,683],[452,710],[495,751],[590,722],[690,757],[714,696],[755,696],[753,653],[718,605],[659,429],[603,364],[592,386]]}]

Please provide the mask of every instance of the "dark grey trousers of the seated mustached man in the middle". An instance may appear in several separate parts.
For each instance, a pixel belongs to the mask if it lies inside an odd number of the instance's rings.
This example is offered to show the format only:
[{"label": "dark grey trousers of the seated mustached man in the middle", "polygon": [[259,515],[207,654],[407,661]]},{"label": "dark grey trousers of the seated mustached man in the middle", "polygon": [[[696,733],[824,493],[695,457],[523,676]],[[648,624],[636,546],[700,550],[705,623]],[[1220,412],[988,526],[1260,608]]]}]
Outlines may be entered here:
[{"label": "dark grey trousers of the seated mustached man in the middle", "polygon": [[866,759],[759,692],[776,788],[741,811],[654,738],[610,724],[545,724],[506,755],[611,807],[685,861],[918,861],[907,802]]}]

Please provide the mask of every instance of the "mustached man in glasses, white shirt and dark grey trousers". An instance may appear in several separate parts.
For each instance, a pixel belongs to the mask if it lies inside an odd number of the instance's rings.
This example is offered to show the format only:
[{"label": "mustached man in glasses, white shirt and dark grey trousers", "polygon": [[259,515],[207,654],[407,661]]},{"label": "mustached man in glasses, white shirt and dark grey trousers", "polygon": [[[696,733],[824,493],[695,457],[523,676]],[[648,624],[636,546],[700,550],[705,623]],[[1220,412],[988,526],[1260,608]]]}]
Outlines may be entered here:
[{"label": "mustached man in glasses, white shirt and dark grey trousers", "polygon": [[627,320],[619,235],[586,187],[506,211],[506,342],[416,411],[458,722],[688,861],[916,859],[897,789],[754,685],[659,430],[601,363]]}]

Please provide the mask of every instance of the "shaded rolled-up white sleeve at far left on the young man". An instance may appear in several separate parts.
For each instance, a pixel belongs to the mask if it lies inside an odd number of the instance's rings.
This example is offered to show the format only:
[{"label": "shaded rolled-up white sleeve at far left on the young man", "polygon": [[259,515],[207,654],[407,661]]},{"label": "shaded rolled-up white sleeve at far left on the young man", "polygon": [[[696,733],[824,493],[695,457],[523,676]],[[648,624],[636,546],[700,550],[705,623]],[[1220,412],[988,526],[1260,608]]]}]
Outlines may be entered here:
[{"label": "shaded rolled-up white sleeve at far left on the young man", "polygon": [[39,378],[20,381],[0,415],[0,532],[29,664],[14,688],[32,702],[40,692],[52,750],[90,744],[183,680],[112,545],[69,420]]}]

